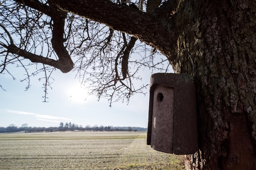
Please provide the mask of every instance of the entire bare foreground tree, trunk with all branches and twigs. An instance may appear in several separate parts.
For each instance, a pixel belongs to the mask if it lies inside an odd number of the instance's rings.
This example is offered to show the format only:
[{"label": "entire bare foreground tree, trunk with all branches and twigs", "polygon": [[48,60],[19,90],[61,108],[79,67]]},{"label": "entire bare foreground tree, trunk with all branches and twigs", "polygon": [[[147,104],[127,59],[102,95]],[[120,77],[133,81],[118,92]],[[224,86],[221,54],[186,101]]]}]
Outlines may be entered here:
[{"label": "entire bare foreground tree, trunk with all branches and twigs", "polygon": [[158,51],[195,80],[199,150],[186,169],[256,169],[255,0],[3,0],[0,10],[0,73],[43,75],[46,93],[52,71],[74,69],[111,103],[142,93],[132,80]]}]

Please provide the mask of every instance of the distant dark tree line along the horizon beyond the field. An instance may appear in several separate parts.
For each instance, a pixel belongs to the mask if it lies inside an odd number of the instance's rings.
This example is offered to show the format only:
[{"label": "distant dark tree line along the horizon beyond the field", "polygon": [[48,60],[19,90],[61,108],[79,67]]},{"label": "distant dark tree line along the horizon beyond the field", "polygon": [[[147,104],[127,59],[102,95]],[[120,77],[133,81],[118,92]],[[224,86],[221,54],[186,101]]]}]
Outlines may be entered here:
[{"label": "distant dark tree line along the horizon beyond the field", "polygon": [[58,132],[58,131],[146,131],[147,128],[141,128],[141,127],[113,127],[113,126],[90,126],[86,125],[83,127],[82,125],[78,126],[76,124],[70,123],[63,123],[61,122],[58,127],[29,127],[28,124],[22,124],[21,127],[17,127],[14,124],[10,124],[7,128],[0,127],[0,133],[6,133],[6,132]]}]

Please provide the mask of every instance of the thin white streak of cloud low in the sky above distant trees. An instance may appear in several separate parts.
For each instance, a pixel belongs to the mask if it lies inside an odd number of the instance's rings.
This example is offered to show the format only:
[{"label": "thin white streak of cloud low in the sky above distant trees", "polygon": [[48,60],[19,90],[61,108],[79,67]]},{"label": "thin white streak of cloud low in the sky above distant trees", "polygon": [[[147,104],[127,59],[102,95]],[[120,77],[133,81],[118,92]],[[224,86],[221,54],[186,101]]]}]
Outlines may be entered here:
[{"label": "thin white streak of cloud low in the sky above distant trees", "polygon": [[51,122],[58,123],[63,120],[72,120],[72,119],[65,118],[65,117],[56,117],[56,116],[51,116],[51,115],[40,115],[37,113],[23,112],[23,111],[10,110],[10,109],[6,109],[6,111],[9,113],[16,113],[16,114],[21,114],[21,115],[32,115],[32,116],[36,117],[36,119],[42,120],[42,121],[51,121]]}]

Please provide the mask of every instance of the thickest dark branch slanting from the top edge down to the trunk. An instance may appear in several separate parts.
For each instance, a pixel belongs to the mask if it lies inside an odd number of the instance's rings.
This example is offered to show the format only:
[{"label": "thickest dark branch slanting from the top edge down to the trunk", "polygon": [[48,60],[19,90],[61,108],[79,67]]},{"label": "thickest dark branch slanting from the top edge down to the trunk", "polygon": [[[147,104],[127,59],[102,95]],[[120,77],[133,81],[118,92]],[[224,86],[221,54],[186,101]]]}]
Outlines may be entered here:
[{"label": "thickest dark branch slanting from the top edge down to the trunk", "polygon": [[[108,25],[110,28],[126,32],[155,47],[168,56],[168,46],[175,44],[177,33],[175,24],[166,18],[156,18],[137,8],[115,4],[109,0],[50,0],[63,10]],[[167,43],[166,43],[167,42]],[[163,46],[163,44],[165,44]]]}]

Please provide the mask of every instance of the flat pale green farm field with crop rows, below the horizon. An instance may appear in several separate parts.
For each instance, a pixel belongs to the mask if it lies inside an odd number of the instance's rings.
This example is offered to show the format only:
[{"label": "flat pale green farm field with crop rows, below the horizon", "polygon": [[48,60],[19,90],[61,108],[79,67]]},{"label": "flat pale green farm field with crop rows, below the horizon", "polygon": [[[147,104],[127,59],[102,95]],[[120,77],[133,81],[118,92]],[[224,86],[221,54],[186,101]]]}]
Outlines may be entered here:
[{"label": "flat pale green farm field with crop rows, below the horizon", "polygon": [[147,146],[146,132],[9,133],[0,170],[184,170],[184,161]]}]

